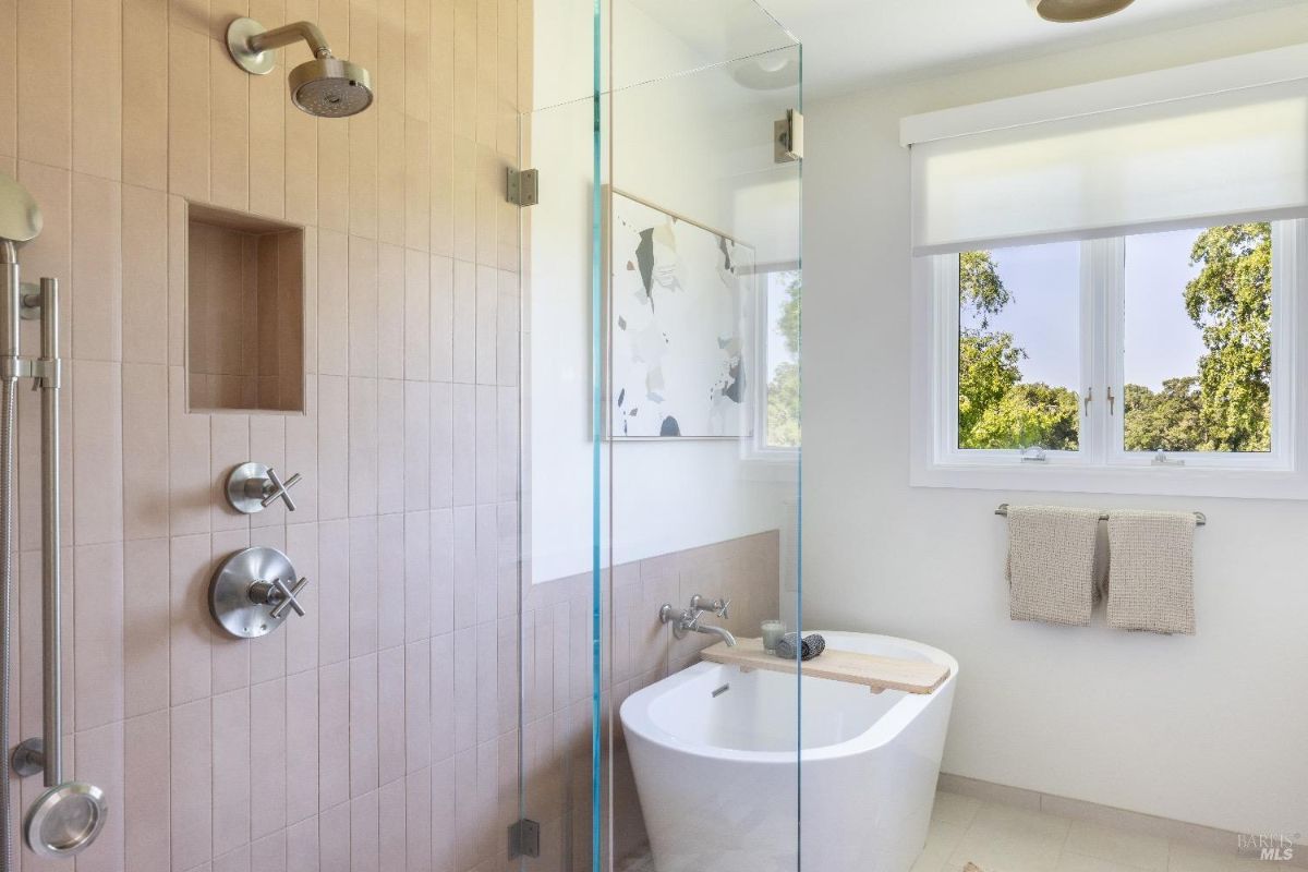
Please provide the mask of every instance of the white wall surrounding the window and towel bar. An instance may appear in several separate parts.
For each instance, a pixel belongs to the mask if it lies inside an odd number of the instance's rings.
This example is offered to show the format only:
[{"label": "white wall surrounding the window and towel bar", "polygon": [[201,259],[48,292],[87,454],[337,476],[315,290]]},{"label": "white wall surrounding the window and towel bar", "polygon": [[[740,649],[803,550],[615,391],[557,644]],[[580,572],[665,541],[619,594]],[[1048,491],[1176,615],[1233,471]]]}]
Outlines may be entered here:
[{"label": "white wall surrounding the window and towel bar", "polygon": [[1033,497],[908,486],[909,163],[897,143],[904,115],[1304,41],[1300,5],[807,107],[806,624],[957,656],[947,771],[1308,833],[1308,502],[1112,498],[1207,514],[1194,638],[1113,631],[1101,616],[1088,629],[1008,621],[993,510]]}]

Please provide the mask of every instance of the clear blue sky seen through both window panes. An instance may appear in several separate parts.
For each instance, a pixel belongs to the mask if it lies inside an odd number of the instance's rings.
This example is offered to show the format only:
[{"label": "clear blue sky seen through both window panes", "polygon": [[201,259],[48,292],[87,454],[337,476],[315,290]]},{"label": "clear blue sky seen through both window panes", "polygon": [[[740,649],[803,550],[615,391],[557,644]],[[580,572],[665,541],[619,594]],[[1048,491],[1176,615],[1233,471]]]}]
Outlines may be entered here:
[{"label": "clear blue sky seen through both window panes", "polygon": [[[1185,314],[1181,293],[1198,272],[1189,265],[1198,230],[1130,237],[1126,242],[1126,382],[1154,390],[1163,379],[1198,371],[1203,343]],[[1079,384],[1080,244],[1057,242],[997,248],[994,261],[1012,302],[990,319],[1011,332],[1028,358],[1027,382]]]}]

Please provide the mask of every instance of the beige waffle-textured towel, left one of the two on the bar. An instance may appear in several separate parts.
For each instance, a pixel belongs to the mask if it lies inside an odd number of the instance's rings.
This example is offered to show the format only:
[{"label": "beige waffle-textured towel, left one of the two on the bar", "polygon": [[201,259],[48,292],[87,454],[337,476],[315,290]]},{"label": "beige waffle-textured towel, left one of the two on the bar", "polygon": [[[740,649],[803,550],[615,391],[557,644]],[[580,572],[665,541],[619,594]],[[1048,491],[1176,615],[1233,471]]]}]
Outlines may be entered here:
[{"label": "beige waffle-textured towel, left one of the two on the bar", "polygon": [[1008,616],[1087,626],[1097,509],[1008,506]]}]

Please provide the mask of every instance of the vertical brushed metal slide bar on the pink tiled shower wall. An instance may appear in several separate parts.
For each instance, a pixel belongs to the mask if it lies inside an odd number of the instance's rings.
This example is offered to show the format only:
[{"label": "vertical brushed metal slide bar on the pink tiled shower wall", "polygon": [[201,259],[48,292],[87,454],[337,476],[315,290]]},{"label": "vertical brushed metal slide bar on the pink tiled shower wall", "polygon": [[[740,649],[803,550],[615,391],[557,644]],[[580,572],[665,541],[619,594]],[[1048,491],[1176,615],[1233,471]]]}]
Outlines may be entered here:
[{"label": "vertical brushed metal slide bar on the pink tiled shower wall", "polygon": [[63,750],[63,621],[60,588],[63,566],[59,531],[60,475],[59,475],[59,280],[41,280],[41,550],[42,550],[42,694],[44,722],[42,739],[46,760],[46,787],[64,780]]}]

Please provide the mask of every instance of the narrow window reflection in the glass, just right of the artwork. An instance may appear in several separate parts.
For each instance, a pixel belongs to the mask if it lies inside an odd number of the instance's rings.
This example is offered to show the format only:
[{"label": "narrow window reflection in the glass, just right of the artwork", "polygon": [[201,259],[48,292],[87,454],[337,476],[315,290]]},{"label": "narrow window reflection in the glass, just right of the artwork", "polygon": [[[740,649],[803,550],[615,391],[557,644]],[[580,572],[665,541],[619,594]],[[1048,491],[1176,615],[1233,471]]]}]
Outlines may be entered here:
[{"label": "narrow window reflection in the glass, just right of the artwork", "polygon": [[803,275],[798,268],[774,268],[760,275],[760,360],[765,366],[756,454],[791,455],[799,447],[799,314]]}]

